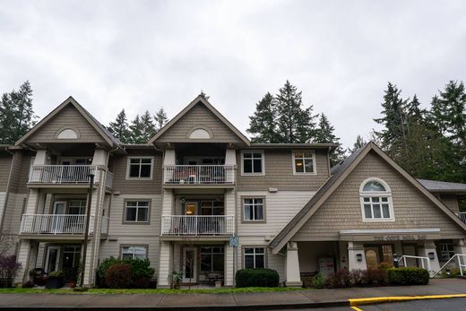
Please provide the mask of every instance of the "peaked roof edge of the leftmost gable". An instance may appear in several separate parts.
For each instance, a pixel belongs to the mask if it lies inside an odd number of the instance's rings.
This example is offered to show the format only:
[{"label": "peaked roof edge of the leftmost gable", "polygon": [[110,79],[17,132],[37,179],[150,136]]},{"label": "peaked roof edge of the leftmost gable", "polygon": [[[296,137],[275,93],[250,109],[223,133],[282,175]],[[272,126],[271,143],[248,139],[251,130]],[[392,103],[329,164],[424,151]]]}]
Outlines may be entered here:
[{"label": "peaked roof edge of the leftmost gable", "polygon": [[65,107],[68,105],[73,105],[74,108],[76,108],[79,113],[81,113],[82,117],[84,117],[89,124],[102,136],[105,142],[107,142],[109,145],[121,145],[121,142],[110,132],[108,132],[108,129],[100,124],[100,122],[91,115],[89,111],[87,111],[85,108],[83,108],[77,101],[76,99],[73,99],[72,96],[67,98],[63,103],[61,103],[58,107],[52,110],[46,117],[42,118],[42,120],[39,121],[37,125],[34,125],[28,133],[24,134],[16,143],[15,145],[20,145],[24,143],[32,134],[36,133],[39,128],[41,128],[43,125],[46,125],[47,122],[52,118],[55,117],[61,110],[63,110]]}]

